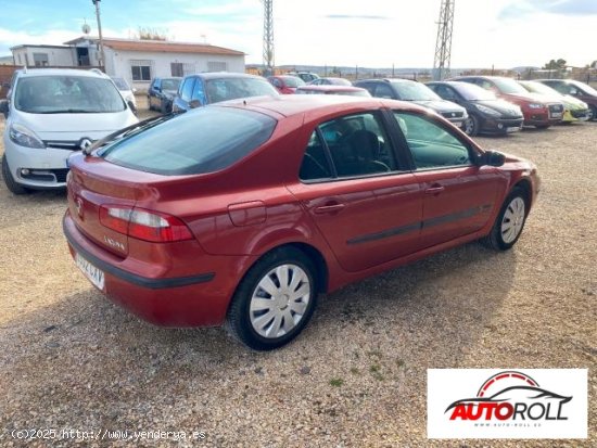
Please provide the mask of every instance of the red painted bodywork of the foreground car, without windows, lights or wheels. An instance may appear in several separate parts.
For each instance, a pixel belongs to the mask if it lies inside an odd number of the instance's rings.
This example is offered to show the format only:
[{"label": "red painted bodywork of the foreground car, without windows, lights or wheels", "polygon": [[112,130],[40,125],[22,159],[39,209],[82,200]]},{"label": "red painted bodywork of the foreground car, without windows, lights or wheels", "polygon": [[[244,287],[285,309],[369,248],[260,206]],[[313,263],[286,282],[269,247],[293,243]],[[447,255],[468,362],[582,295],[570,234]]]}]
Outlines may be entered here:
[{"label": "red painted bodywork of the foreground car, without windows, lights or wheels", "polygon": [[[206,175],[158,176],[116,166],[103,158],[71,157],[68,210],[64,231],[78,248],[123,272],[149,280],[214,273],[211,281],[151,289],[105,272],[105,295],[137,316],[160,325],[218,325],[245,272],[267,252],[287,244],[318,254],[320,285],[331,292],[427,255],[487,234],[505,196],[526,182],[530,205],[538,191],[534,166],[512,156],[501,167],[466,166],[432,171],[304,183],[298,169],[317,125],[366,111],[402,110],[428,114],[392,100],[296,95],[228,103],[278,120],[271,138],[229,168]],[[429,114],[428,114],[429,115]],[[429,115],[479,148],[461,131]],[[176,119],[176,118],[174,118]],[[444,191],[430,194],[430,187]],[[77,204],[78,202],[78,204]],[[82,206],[81,206],[82,203]],[[344,204],[340,212],[318,207]],[[194,240],[150,243],[111,231],[99,222],[101,205],[123,204],[180,218]],[[80,208],[80,213],[77,210]],[[351,238],[434,219],[446,213],[485,206],[483,212],[392,238],[346,244]],[[481,208],[480,208],[481,209]],[[82,218],[81,218],[82,216]],[[112,247],[105,238],[123,247]]]}]

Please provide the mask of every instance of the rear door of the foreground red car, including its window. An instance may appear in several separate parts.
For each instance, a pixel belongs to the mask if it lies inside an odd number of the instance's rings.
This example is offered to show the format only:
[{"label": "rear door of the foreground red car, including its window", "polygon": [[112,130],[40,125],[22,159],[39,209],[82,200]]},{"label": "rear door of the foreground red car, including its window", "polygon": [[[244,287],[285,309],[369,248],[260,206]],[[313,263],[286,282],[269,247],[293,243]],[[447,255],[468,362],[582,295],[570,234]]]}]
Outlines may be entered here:
[{"label": "rear door of the foreground red car, including its window", "polygon": [[345,270],[359,271],[417,251],[422,193],[396,159],[379,111],[318,126],[298,177],[289,190]]}]

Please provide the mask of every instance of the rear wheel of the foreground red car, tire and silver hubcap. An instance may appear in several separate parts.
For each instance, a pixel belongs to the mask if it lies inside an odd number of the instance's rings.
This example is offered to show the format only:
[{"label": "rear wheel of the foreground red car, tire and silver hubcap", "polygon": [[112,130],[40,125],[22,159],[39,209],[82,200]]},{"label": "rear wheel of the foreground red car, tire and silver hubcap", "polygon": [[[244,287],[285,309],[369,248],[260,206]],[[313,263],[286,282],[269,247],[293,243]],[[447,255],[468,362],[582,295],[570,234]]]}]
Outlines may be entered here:
[{"label": "rear wheel of the foreground red car, tire and silver hubcap", "polygon": [[294,247],[266,254],[240,282],[226,327],[255,350],[288,344],[307,325],[317,304],[313,261]]}]

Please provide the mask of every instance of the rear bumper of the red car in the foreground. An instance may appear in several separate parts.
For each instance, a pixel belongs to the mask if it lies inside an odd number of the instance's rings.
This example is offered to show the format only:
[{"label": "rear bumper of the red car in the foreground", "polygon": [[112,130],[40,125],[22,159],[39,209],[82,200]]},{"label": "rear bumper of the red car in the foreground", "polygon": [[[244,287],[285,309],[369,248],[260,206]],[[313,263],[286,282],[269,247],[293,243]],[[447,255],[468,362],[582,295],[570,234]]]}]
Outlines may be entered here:
[{"label": "rear bumper of the red car in the foreground", "polygon": [[[198,266],[208,271],[185,277],[145,277],[89,241],[68,212],[63,231],[71,255],[78,253],[104,272],[102,293],[139,318],[161,327],[212,327],[226,319],[228,304],[240,279],[238,268],[249,257],[204,255]],[[205,261],[208,261],[207,264]],[[176,260],[172,260],[176,264]]]}]

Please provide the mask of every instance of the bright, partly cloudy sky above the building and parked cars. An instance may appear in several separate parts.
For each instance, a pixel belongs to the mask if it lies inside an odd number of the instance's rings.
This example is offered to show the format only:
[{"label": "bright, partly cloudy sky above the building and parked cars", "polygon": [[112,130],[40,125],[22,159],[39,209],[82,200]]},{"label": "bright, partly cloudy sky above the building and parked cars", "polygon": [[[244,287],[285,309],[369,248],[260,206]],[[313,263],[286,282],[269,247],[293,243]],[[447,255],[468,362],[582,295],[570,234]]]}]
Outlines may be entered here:
[{"label": "bright, partly cloudy sky above the building and parked cars", "polygon": [[[441,0],[274,0],[277,65],[431,67]],[[139,27],[263,61],[261,0],[102,0],[104,37]],[[91,0],[0,0],[0,56],[22,43],[97,35]],[[455,0],[452,67],[542,66],[597,60],[597,0]]]}]

